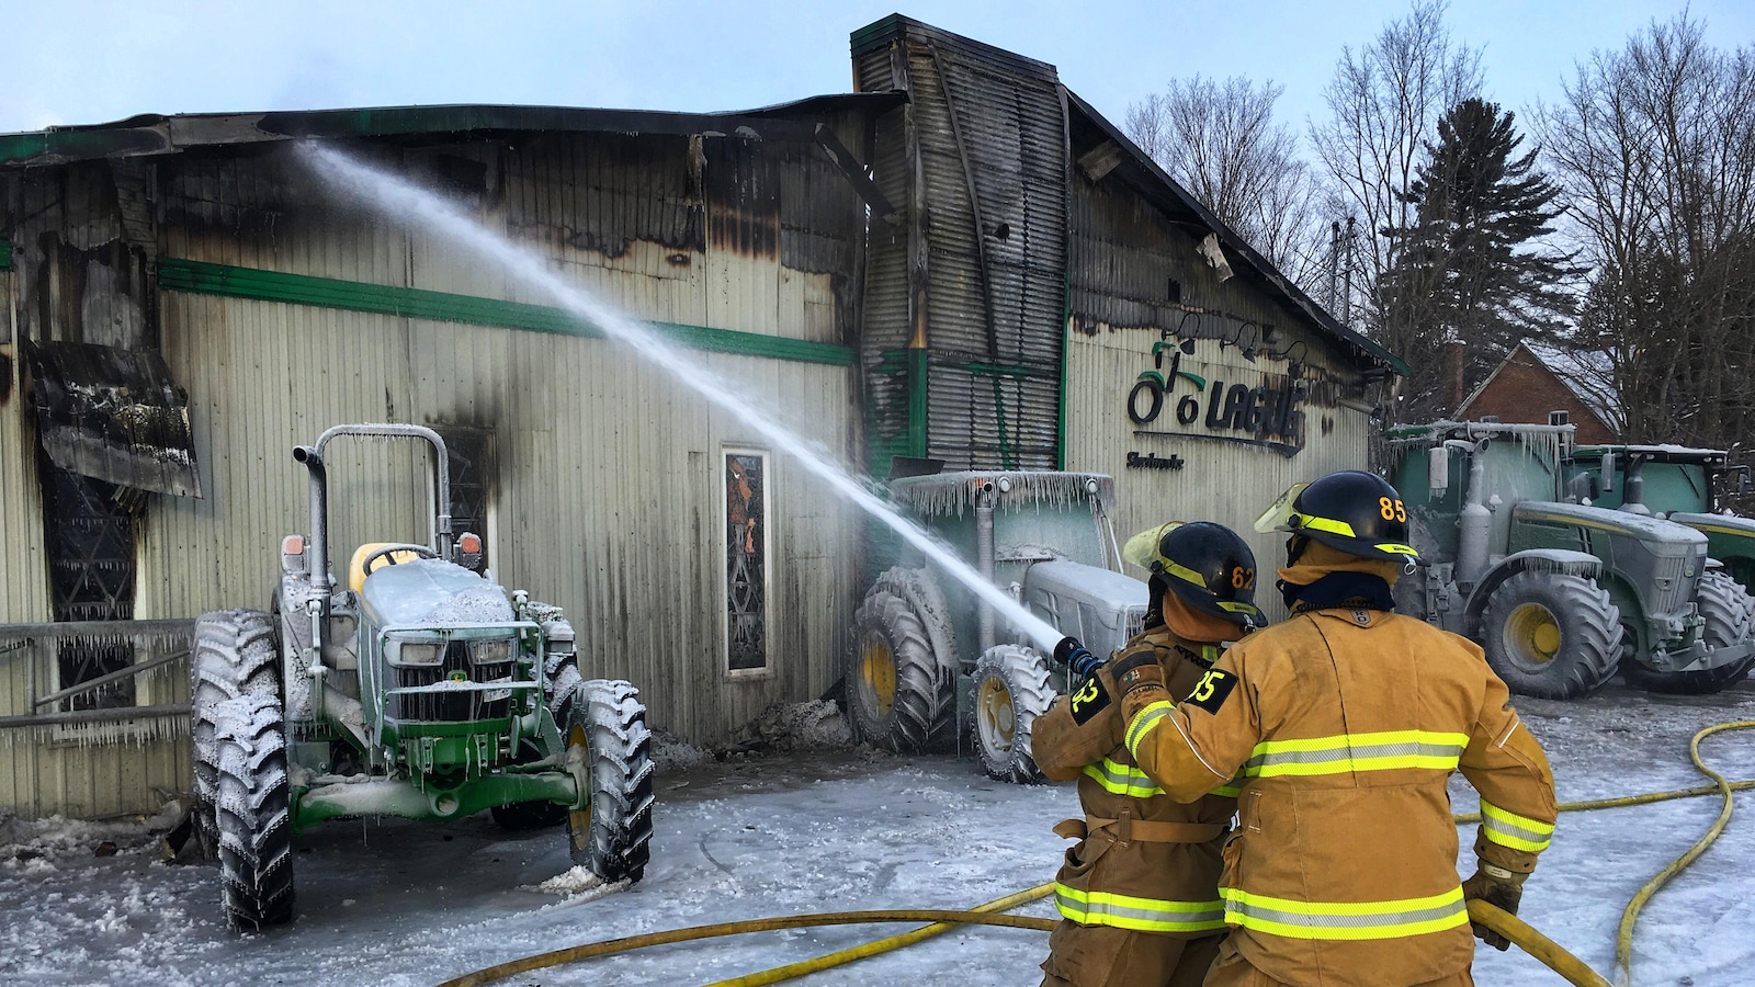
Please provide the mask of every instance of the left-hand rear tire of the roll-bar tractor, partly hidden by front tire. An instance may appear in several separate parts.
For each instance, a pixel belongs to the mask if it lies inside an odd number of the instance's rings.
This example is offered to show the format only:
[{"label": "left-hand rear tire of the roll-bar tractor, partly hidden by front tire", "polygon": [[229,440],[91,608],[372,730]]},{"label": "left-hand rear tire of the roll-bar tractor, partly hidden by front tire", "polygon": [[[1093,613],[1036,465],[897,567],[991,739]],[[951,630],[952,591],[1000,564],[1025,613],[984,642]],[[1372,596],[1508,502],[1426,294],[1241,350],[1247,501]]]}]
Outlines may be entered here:
[{"label": "left-hand rear tire of the roll-bar tractor, partly hidden by front tire", "polygon": [[195,824],[207,857],[218,850],[219,704],[242,695],[281,697],[281,648],[274,618],[258,609],[221,609],[195,620],[190,652],[190,727],[193,734]]}]

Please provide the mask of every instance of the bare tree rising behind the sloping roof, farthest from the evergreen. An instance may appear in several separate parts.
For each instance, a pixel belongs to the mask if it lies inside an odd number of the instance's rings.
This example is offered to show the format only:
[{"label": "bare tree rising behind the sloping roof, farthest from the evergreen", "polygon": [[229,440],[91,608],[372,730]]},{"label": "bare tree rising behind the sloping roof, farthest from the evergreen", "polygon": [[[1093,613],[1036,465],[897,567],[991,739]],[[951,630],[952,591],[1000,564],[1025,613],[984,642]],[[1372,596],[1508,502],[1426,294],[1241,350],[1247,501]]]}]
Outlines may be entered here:
[{"label": "bare tree rising behind the sloping roof, farthest from the evergreen", "polygon": [[1274,267],[1311,285],[1322,232],[1297,133],[1274,121],[1283,91],[1244,77],[1174,79],[1127,109],[1127,132]]}]

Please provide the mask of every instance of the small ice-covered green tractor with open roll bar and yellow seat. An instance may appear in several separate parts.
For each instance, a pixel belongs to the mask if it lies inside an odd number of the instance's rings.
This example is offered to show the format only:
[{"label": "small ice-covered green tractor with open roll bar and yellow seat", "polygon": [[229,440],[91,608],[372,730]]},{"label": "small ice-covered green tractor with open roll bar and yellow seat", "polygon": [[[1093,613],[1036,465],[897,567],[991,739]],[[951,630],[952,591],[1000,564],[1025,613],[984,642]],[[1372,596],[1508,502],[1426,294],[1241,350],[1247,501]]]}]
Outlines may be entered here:
[{"label": "small ice-covered green tractor with open roll bar and yellow seat", "polygon": [[[360,546],[332,567],[323,455],[340,436],[432,446],[432,543]],[[627,681],[583,680],[560,608],[474,569],[451,537],[437,432],[337,425],[305,465],[311,534],[281,543],[272,613],[204,613],[191,695],[195,799],[239,931],[293,917],[291,838],[323,820],[565,822],[576,864],[639,880],[651,839],[646,710]]]}]

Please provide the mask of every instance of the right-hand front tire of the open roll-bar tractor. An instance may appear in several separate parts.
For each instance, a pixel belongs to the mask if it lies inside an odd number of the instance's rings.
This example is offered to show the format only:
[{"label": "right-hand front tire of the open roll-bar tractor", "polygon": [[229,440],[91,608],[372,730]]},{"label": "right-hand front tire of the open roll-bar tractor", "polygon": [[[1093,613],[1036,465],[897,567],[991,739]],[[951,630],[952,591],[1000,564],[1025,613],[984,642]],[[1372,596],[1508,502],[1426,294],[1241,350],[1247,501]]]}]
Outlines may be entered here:
[{"label": "right-hand front tire of the open roll-bar tractor", "polygon": [[567,848],[604,882],[637,882],[651,861],[651,732],[639,695],[627,681],[586,680],[567,722],[567,762],[583,759],[591,774],[590,804],[567,813]]}]

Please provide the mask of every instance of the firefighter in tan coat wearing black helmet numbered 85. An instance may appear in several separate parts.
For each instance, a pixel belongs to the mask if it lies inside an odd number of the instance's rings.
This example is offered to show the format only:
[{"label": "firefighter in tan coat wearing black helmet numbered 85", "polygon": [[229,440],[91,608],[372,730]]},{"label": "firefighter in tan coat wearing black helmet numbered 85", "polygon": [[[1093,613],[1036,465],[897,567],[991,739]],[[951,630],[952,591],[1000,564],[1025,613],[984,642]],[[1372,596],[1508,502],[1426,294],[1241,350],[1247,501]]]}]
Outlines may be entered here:
[{"label": "firefighter in tan coat wearing black helmet numbered 85", "polygon": [[[1516,911],[1553,832],[1548,759],[1478,646],[1392,613],[1418,558],[1393,486],[1336,472],[1288,501],[1257,525],[1292,532],[1285,623],[1192,692],[1157,662],[1111,664],[1127,748],[1171,797],[1243,773],[1220,882],[1232,934],[1207,983],[1472,983],[1465,899]],[[1479,869],[1460,885],[1455,769],[1481,794]]]}]

